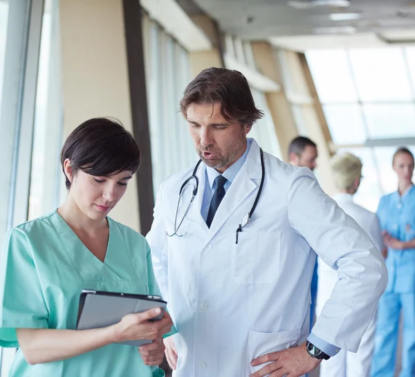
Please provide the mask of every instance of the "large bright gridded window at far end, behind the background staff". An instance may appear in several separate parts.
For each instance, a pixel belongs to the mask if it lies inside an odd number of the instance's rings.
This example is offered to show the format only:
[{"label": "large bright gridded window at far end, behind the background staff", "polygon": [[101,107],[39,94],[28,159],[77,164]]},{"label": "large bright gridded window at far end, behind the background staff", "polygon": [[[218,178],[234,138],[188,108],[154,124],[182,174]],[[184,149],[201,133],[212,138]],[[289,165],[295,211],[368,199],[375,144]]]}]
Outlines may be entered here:
[{"label": "large bright gridded window at far end, behind the background staff", "polygon": [[313,50],[306,57],[335,146],[363,162],[356,200],[374,211],[381,195],[396,190],[394,151],[415,137],[415,48]]}]

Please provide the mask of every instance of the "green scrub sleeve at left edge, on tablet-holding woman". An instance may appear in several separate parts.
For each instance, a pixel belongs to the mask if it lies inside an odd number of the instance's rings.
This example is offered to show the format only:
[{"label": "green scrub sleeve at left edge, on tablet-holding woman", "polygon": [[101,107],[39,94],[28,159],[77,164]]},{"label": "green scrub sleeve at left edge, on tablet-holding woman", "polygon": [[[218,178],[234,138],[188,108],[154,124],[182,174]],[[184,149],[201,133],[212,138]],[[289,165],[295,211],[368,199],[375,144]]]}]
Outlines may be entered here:
[{"label": "green scrub sleeve at left edge, on tablet-holding woman", "polygon": [[19,347],[17,328],[48,328],[48,309],[30,242],[19,229],[9,233],[2,249],[0,303],[1,347]]}]

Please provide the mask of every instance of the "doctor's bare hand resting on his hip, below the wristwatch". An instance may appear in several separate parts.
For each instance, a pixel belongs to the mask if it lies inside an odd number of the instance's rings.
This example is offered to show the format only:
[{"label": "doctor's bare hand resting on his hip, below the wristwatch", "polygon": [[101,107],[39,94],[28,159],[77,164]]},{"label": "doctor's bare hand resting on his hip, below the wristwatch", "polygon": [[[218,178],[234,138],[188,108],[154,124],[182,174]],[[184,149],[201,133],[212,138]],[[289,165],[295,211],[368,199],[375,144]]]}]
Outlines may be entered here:
[{"label": "doctor's bare hand resting on his hip, below the wristwatch", "polygon": [[306,343],[294,348],[284,349],[252,360],[251,365],[269,363],[259,371],[251,374],[250,377],[299,377],[315,369],[322,360],[312,358],[307,350]]}]

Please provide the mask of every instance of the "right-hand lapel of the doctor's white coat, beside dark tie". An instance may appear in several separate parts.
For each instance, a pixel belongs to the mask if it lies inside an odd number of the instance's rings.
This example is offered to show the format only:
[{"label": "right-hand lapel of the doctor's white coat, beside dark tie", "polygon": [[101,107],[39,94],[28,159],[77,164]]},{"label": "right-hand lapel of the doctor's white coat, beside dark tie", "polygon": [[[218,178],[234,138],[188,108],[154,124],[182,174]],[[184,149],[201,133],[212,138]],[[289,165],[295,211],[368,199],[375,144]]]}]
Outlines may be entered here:
[{"label": "right-hand lapel of the doctor's white coat, beside dark tie", "polygon": [[[252,140],[250,151],[246,157],[245,164],[242,165],[241,170],[235,177],[234,181],[230,185],[229,190],[223,197],[221,204],[219,205],[216,214],[214,215],[212,224],[209,229],[210,238],[212,238],[230,218],[230,215],[241,206],[252,192],[257,191],[259,186],[259,180],[261,180],[261,157],[259,155],[259,146],[255,140]],[[252,207],[252,204],[243,204],[246,206],[246,213],[248,213]],[[233,219],[235,222],[235,231],[237,230],[240,219]]]}]

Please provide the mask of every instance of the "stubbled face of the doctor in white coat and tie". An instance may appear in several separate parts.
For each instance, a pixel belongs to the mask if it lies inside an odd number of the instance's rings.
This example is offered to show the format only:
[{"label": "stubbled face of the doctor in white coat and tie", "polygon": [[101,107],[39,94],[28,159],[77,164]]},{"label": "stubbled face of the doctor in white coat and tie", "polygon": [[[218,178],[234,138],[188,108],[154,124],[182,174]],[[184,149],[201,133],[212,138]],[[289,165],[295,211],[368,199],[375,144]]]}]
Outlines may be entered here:
[{"label": "stubbled face of the doctor in white coat and tie", "polygon": [[251,126],[229,122],[221,115],[221,104],[191,104],[187,122],[194,148],[201,160],[223,173],[246,151]]}]

